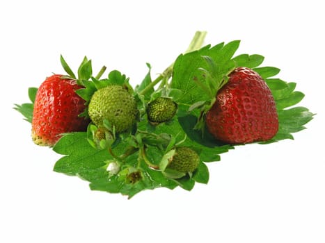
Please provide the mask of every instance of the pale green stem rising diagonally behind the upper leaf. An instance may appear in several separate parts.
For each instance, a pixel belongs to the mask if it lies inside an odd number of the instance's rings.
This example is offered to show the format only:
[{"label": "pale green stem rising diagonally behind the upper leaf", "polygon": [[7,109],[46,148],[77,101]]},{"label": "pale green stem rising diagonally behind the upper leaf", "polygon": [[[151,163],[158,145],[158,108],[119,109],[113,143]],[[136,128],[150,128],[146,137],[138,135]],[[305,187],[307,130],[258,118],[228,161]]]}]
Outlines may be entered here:
[{"label": "pale green stem rising diagonally behind the upper leaf", "polygon": [[[196,31],[193,39],[191,40],[191,43],[189,44],[189,47],[187,48],[187,51],[185,51],[184,53],[189,53],[191,51],[196,51],[196,50],[200,49],[200,47],[202,47],[203,41],[205,39],[205,35],[207,35],[207,32],[205,32],[205,31]],[[173,62],[169,67],[167,67],[162,74],[160,74],[156,79],[154,79],[154,81],[152,81],[152,83],[150,83],[147,87],[145,87],[140,92],[140,94],[144,95],[146,92],[151,90],[155,85],[157,85],[157,83],[162,81],[163,78],[166,78],[166,79],[170,78],[173,73],[174,63],[175,62]]]}]

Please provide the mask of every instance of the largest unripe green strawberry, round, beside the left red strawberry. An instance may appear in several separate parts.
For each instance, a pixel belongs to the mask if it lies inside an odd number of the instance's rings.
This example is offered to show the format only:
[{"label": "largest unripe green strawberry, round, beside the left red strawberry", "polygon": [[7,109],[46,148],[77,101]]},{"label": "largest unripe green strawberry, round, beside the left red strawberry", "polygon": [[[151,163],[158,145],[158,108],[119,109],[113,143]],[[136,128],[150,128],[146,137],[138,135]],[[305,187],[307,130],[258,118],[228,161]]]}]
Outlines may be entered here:
[{"label": "largest unripe green strawberry, round, beside the left red strawberry", "polygon": [[96,126],[103,126],[104,119],[107,119],[115,126],[116,133],[131,128],[137,112],[134,97],[120,85],[109,85],[97,90],[88,106],[89,117]]}]

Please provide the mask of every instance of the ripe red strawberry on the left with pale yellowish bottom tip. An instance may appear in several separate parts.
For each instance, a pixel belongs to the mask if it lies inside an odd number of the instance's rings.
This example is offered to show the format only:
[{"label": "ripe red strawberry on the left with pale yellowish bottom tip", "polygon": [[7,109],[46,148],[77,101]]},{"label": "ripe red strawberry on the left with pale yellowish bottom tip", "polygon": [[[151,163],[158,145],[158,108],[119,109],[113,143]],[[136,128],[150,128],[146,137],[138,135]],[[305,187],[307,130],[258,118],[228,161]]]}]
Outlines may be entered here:
[{"label": "ripe red strawberry on the left with pale yellowish bottom tip", "polygon": [[50,76],[38,88],[32,120],[35,144],[53,146],[62,133],[85,131],[89,123],[78,116],[86,107],[85,101],[74,91],[82,86],[61,76]]}]

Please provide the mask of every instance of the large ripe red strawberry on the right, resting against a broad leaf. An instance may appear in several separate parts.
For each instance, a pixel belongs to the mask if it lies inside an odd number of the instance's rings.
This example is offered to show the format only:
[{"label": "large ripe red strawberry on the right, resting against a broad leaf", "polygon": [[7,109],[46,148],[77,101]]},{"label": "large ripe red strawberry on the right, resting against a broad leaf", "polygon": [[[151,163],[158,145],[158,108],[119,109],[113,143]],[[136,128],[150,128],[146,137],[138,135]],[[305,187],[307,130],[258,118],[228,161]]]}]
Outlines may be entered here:
[{"label": "large ripe red strawberry on the right, resting against a broad leaf", "polygon": [[252,69],[238,67],[207,112],[207,128],[229,144],[266,141],[278,132],[276,103],[269,87]]}]

